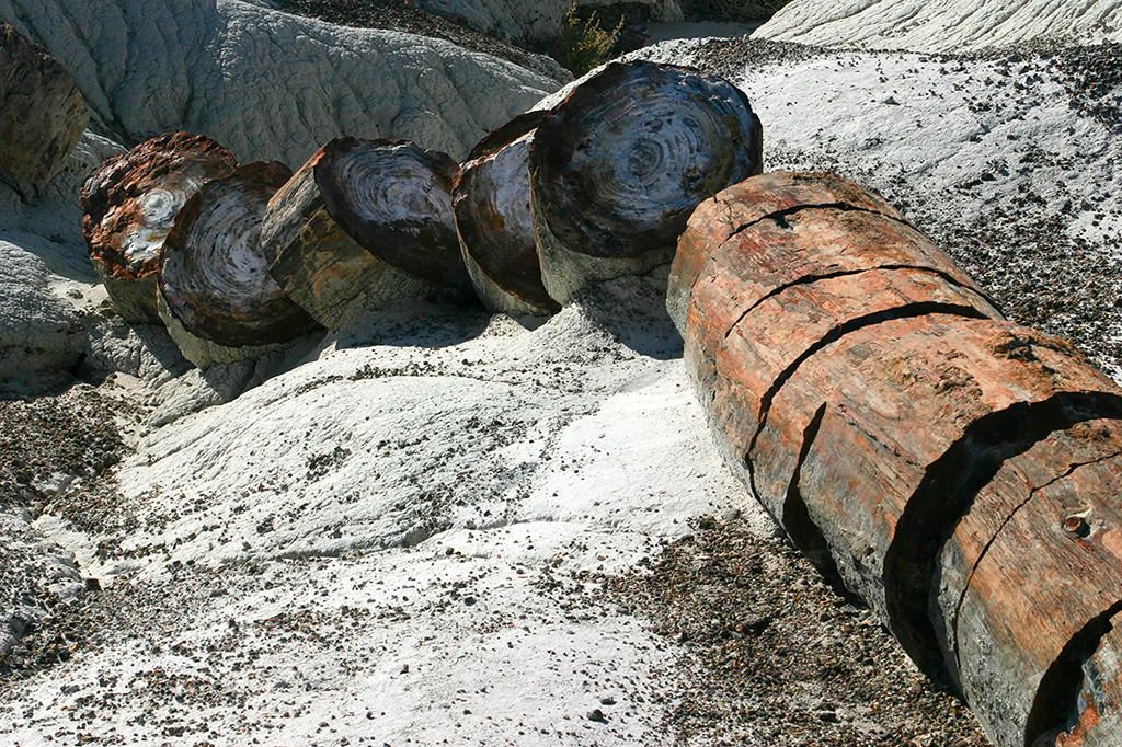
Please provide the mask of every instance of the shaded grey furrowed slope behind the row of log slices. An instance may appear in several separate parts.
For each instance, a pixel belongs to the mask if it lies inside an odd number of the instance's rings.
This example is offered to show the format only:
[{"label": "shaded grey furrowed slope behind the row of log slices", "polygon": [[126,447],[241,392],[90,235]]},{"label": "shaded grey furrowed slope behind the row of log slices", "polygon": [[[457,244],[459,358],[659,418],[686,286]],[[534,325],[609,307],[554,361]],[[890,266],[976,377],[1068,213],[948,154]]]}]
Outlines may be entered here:
[{"label": "shaded grey furrowed slope behind the row of log slices", "polygon": [[451,43],[343,28],[239,0],[0,0],[71,71],[101,129],[186,129],[239,162],[300,166],[339,135],[460,158],[558,86]]}]

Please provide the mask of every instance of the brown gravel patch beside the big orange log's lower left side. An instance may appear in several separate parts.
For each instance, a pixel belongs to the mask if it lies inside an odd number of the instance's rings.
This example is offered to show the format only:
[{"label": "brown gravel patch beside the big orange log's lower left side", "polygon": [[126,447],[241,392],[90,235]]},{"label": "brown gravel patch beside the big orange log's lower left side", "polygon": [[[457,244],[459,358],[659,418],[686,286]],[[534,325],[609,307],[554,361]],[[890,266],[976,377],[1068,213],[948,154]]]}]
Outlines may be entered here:
[{"label": "brown gravel patch beside the big orange log's lower left side", "polygon": [[971,711],[923,676],[875,614],[789,543],[698,519],[660,557],[599,582],[595,603],[681,644],[680,744],[983,747]]}]

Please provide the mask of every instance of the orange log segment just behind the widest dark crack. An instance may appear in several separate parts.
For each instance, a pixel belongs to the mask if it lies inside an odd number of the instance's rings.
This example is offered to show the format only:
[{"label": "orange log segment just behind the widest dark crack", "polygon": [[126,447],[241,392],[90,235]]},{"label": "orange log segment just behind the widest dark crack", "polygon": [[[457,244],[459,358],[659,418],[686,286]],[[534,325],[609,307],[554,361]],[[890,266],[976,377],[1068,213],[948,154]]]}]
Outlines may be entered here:
[{"label": "orange log segment just behind the widest dark crack", "polygon": [[[902,626],[886,599],[901,592],[900,583],[885,589],[884,564],[904,509],[919,500],[927,516],[959,516],[1002,459],[1047,435],[1034,421],[1066,427],[1082,414],[1079,395],[1110,399],[1114,390],[1070,345],[1008,322],[893,319],[845,334],[799,367],[764,412],[748,468],[765,504],[804,506],[847,585],[890,619],[913,658],[932,664],[937,642],[902,635],[920,631]],[[1027,403],[1060,412],[1033,417]],[[918,531],[939,535],[936,525]],[[916,583],[926,615],[930,579]]]}]

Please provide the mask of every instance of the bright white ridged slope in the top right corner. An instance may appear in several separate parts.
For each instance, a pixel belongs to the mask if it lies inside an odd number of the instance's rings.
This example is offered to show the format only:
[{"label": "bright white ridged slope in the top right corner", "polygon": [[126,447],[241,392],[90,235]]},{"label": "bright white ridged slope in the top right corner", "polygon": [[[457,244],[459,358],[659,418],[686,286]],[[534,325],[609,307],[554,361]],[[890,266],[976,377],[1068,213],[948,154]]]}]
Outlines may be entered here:
[{"label": "bright white ridged slope in the top right corner", "polygon": [[752,38],[913,52],[969,52],[1033,40],[1122,42],[1122,2],[793,0]]}]

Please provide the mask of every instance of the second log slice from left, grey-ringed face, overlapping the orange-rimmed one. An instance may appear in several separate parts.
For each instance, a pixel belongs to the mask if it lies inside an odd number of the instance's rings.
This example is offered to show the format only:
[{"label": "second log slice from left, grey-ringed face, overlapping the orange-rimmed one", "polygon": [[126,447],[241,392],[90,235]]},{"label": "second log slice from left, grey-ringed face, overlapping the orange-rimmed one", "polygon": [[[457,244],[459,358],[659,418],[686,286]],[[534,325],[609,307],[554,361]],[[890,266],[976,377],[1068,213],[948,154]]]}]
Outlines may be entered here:
[{"label": "second log slice from left, grey-ringed face, overlapping the orange-rimmed one", "polygon": [[269,197],[292,176],[257,162],[187,200],[167,234],[159,312],[199,368],[260,358],[316,328],[269,277],[259,234]]}]

